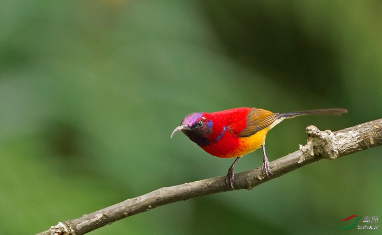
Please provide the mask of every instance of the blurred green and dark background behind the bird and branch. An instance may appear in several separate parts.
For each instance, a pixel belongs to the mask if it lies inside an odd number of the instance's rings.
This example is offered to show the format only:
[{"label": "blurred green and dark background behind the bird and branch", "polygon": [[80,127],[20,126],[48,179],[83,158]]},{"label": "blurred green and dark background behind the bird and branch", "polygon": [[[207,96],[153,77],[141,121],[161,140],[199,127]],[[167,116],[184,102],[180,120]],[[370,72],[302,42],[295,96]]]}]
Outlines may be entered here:
[{"label": "blurred green and dark background behind the bird and branch", "polygon": [[[306,143],[308,125],[339,130],[381,118],[381,11],[377,0],[1,1],[0,234],[35,234],[225,175],[233,159],[182,134],[170,139],[191,112],[349,110],[278,125],[267,136],[270,160]],[[334,224],[382,216],[381,150],[90,234],[359,234]],[[256,151],[235,169],[261,164]]]}]

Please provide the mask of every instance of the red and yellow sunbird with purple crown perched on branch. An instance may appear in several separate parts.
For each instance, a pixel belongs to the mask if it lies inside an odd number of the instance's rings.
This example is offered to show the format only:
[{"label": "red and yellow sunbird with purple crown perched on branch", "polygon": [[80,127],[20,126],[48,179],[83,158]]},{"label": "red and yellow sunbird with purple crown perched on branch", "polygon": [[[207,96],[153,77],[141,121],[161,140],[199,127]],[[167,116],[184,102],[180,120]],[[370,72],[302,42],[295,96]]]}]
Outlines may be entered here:
[{"label": "red and yellow sunbird with purple crown perched on branch", "polygon": [[264,156],[261,170],[267,177],[272,173],[265,154],[265,136],[282,120],[303,115],[341,115],[346,112],[348,112],[346,109],[316,109],[272,113],[257,108],[236,108],[214,113],[191,113],[182,120],[180,126],[175,128],[170,138],[178,131],[182,131],[191,141],[213,156],[236,157],[228,169],[226,178],[227,184],[233,188],[235,164],[243,155],[260,147]]}]

